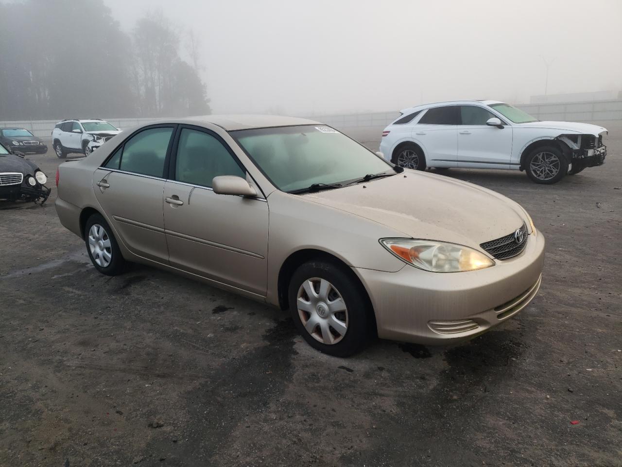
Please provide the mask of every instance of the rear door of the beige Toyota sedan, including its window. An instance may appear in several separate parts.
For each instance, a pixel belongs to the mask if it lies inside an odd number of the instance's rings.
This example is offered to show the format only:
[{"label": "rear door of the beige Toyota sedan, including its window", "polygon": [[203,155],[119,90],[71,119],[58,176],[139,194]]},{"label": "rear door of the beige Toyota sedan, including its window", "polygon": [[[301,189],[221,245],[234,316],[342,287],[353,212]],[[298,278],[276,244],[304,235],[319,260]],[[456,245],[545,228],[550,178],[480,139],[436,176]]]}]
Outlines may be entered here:
[{"label": "rear door of the beige Toyota sedan, including its window", "polygon": [[162,196],[175,128],[157,125],[132,134],[93,176],[95,196],[119,240],[159,263],[169,260]]}]

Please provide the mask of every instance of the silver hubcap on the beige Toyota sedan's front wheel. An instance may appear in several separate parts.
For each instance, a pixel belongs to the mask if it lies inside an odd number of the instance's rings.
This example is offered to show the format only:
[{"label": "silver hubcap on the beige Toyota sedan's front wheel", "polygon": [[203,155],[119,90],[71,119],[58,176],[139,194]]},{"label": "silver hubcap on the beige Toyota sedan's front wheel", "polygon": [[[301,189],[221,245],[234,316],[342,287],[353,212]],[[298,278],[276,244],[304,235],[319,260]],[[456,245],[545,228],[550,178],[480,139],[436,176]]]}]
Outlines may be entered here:
[{"label": "silver hubcap on the beige Toyota sedan's front wheel", "polygon": [[339,291],[325,279],[305,280],[296,298],[307,333],[322,344],[337,344],[348,331],[348,308]]}]

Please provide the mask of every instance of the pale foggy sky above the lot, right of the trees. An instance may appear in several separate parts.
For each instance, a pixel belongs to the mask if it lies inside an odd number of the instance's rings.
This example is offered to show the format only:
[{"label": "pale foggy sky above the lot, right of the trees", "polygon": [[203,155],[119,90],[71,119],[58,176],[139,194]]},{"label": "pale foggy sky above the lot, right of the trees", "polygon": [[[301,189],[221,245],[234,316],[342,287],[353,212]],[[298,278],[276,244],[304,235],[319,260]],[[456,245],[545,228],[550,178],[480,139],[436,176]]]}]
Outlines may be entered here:
[{"label": "pale foggy sky above the lot, right of the trees", "polygon": [[622,89],[620,0],[104,0],[202,43],[214,113],[393,111]]}]

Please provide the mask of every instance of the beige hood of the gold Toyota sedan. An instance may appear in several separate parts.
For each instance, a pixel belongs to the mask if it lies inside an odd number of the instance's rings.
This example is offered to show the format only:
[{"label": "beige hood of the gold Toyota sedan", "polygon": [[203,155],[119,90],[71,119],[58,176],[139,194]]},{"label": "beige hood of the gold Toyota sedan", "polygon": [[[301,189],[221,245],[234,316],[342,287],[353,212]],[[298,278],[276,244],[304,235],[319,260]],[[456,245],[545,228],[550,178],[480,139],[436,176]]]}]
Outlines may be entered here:
[{"label": "beige hood of the gold Toyota sedan", "polygon": [[401,232],[397,237],[470,247],[511,234],[526,222],[522,208],[501,194],[424,172],[404,171],[304,197],[386,225]]}]

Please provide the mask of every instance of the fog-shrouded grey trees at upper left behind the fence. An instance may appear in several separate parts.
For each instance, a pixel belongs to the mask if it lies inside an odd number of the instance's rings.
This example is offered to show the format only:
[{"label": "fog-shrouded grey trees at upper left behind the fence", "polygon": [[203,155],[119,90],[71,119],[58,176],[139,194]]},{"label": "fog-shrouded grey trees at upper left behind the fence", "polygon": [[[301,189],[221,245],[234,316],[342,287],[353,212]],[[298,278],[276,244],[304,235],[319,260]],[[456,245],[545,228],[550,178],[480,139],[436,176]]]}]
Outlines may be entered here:
[{"label": "fog-shrouded grey trees at upper left behind the fence", "polygon": [[0,4],[0,120],[207,115],[198,47],[162,14],[126,34],[103,0]]}]

